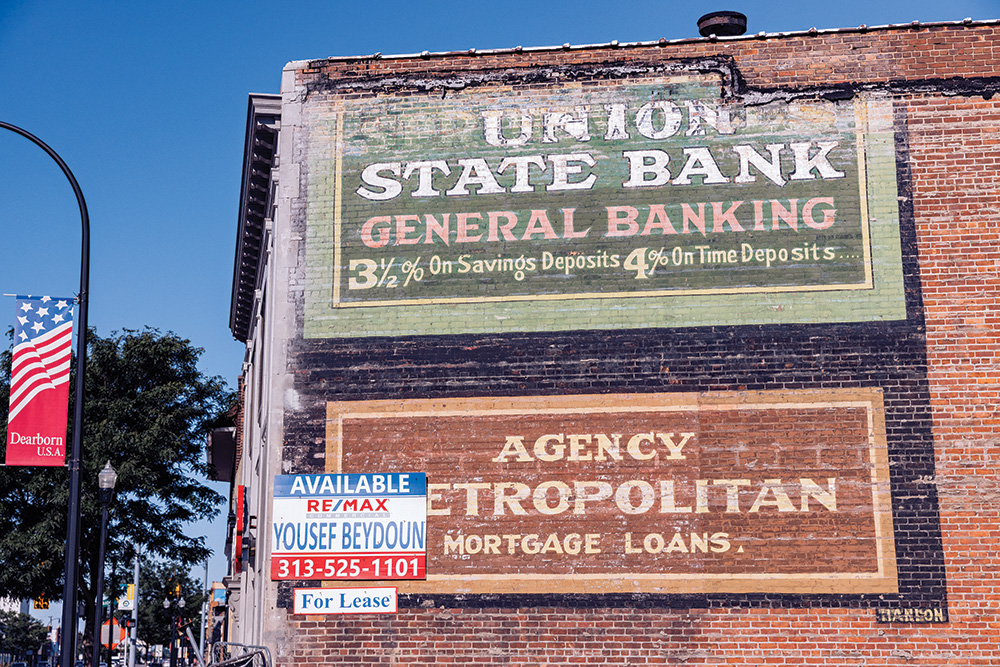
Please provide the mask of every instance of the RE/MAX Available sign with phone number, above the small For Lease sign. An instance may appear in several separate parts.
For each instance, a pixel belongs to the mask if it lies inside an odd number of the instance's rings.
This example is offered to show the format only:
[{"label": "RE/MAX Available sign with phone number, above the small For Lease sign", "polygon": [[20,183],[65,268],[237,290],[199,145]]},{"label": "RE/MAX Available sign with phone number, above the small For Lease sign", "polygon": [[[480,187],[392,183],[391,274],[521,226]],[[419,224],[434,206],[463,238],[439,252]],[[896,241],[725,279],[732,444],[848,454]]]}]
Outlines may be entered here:
[{"label": "RE/MAX Available sign with phone number, above the small For Lease sign", "polygon": [[272,579],[422,579],[423,473],[278,475]]}]

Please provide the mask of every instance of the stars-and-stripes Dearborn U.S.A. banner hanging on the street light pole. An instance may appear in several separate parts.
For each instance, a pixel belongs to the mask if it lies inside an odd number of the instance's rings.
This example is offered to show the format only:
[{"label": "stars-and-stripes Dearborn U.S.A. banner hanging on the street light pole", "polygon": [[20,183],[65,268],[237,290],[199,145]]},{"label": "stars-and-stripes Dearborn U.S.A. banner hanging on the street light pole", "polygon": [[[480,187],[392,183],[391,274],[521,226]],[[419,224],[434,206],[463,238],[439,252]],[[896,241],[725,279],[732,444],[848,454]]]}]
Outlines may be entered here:
[{"label": "stars-and-stripes Dearborn U.S.A. banner hanging on the street light pole", "polygon": [[7,465],[66,463],[73,300],[17,297]]}]

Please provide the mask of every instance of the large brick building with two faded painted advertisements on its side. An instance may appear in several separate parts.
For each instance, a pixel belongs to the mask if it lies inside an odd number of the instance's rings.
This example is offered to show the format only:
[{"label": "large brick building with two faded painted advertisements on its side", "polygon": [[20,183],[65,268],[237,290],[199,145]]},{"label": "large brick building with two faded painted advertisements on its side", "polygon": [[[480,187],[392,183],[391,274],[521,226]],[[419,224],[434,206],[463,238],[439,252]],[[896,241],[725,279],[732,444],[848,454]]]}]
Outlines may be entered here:
[{"label": "large brick building with two faded painted advertisements on its side", "polygon": [[[230,639],[995,664],[998,33],[287,65],[247,124]],[[273,555],[275,476],[403,471],[426,577],[293,613],[382,584]]]}]

